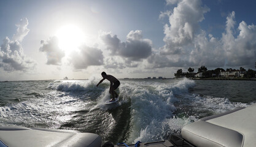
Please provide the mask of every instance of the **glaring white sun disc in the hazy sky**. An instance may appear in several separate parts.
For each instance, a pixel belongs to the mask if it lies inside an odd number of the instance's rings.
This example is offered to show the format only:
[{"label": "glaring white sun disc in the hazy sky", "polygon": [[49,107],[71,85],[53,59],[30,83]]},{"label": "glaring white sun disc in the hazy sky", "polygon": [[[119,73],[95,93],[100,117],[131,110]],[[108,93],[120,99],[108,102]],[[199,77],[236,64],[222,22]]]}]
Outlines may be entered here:
[{"label": "glaring white sun disc in the hazy sky", "polygon": [[58,44],[62,50],[72,51],[85,41],[85,35],[82,30],[76,25],[65,25],[56,31]]}]

